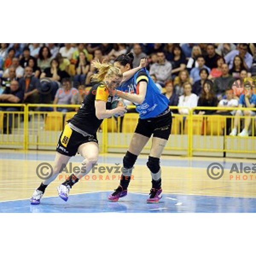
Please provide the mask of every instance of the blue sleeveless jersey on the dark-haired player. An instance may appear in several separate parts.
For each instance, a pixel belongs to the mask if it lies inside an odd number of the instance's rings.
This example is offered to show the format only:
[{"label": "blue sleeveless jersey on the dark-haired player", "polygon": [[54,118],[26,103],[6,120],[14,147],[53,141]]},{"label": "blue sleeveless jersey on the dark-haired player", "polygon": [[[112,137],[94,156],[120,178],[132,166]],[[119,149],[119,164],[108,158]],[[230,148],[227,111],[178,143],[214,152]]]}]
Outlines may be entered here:
[{"label": "blue sleeveless jersey on the dark-haired player", "polygon": [[156,117],[160,113],[168,108],[168,99],[166,96],[160,93],[154,81],[148,74],[148,70],[145,68],[139,70],[133,77],[125,81],[117,90],[122,90],[123,92],[137,92],[137,84],[140,81],[147,82],[147,92],[142,104],[136,105],[136,111],[140,114],[141,119]]}]

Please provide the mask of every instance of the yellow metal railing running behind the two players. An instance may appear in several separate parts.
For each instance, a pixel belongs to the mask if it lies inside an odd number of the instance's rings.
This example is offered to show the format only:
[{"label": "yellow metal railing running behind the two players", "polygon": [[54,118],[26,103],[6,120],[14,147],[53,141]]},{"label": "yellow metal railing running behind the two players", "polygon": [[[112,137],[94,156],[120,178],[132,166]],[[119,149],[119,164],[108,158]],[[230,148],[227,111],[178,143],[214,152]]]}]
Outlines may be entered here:
[{"label": "yellow metal railing running behind the two players", "polygon": [[[0,147],[23,149],[55,149],[58,137],[67,119],[72,118],[79,105],[37,105],[37,104],[0,104]],[[18,107],[19,111],[7,111],[6,108]],[[69,108],[69,112],[48,111],[38,108]],[[128,107],[128,112],[134,109]],[[179,107],[170,107],[173,112],[172,135],[166,145],[164,154],[179,155],[223,155],[225,153],[256,153],[255,118],[240,116],[238,131],[244,119],[251,119],[249,137],[231,137],[228,128],[233,128],[235,116],[198,115],[200,110],[223,110],[217,107],[196,107],[188,114],[177,113]],[[187,109],[187,108],[183,108]],[[42,110],[42,109],[41,109]],[[256,108],[225,108],[232,110],[252,110]],[[12,119],[11,126],[9,120]],[[100,150],[107,152],[124,152],[127,150],[135,131],[138,113],[126,113],[124,117],[105,119],[98,132]],[[229,121],[228,121],[229,120]],[[230,127],[229,127],[230,126]],[[147,153],[151,142],[145,146]],[[209,153],[211,152],[211,153]]]}]

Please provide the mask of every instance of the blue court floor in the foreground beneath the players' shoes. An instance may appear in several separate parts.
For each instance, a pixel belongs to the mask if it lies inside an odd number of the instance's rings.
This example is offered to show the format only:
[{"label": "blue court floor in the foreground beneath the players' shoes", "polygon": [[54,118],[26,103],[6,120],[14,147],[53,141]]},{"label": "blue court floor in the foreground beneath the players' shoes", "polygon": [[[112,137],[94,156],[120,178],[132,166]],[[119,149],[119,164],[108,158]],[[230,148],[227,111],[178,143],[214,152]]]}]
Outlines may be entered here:
[{"label": "blue court floor in the foreground beneath the players' shoes", "polygon": [[43,198],[40,205],[29,200],[0,202],[0,212],[256,212],[256,198],[164,194],[159,204],[146,204],[147,194],[131,192],[110,202],[110,192],[90,192],[61,198]]}]

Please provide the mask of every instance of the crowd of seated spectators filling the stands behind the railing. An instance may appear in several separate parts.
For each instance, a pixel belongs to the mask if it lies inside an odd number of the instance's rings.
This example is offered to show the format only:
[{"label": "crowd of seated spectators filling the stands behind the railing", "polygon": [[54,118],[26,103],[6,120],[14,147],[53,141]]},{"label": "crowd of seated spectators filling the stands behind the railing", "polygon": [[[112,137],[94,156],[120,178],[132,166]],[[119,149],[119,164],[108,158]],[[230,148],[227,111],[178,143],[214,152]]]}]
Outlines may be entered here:
[{"label": "crowd of seated spectators filling the stands behind the railing", "polygon": [[[255,107],[256,44],[5,44],[0,46],[0,102],[80,104],[97,70],[93,60],[113,63],[133,52],[133,66],[147,57],[147,69],[170,106]],[[51,83],[49,83],[51,81]],[[255,85],[254,85],[255,81]],[[49,90],[50,87],[50,90]],[[70,93],[61,93],[70,90]],[[49,93],[45,93],[49,91]],[[131,104],[131,103],[130,103]],[[18,108],[0,108],[14,111]],[[40,108],[70,111],[69,108]],[[175,112],[175,111],[174,111]],[[196,111],[212,114],[216,111]],[[255,116],[254,111],[218,111]],[[236,119],[235,119],[236,120]],[[250,119],[248,119],[250,121]],[[247,136],[250,122],[239,135]],[[238,118],[231,135],[238,133]]]}]

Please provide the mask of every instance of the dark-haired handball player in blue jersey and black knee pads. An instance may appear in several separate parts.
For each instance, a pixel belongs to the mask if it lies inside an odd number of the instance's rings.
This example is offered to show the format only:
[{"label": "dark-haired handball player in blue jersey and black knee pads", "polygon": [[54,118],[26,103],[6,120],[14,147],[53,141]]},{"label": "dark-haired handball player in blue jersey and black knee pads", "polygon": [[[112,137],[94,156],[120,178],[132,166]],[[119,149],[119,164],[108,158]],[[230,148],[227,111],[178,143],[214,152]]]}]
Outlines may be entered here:
[{"label": "dark-haired handball player in blue jersey and black knee pads", "polygon": [[[125,73],[133,68],[133,59],[134,57],[131,53],[119,55],[114,62],[114,66],[118,67],[122,73]],[[147,202],[158,203],[162,198],[160,157],[172,128],[172,113],[169,110],[168,99],[160,93],[145,67],[138,70],[134,76],[122,83],[112,93],[122,99],[133,102],[136,105],[137,112],[140,114],[140,118],[128,151],[123,157],[123,172],[120,184],[108,196],[108,199],[110,201],[118,201],[119,198],[127,195],[131,172],[137,157],[153,135],[147,161],[152,178],[152,187]]]}]

